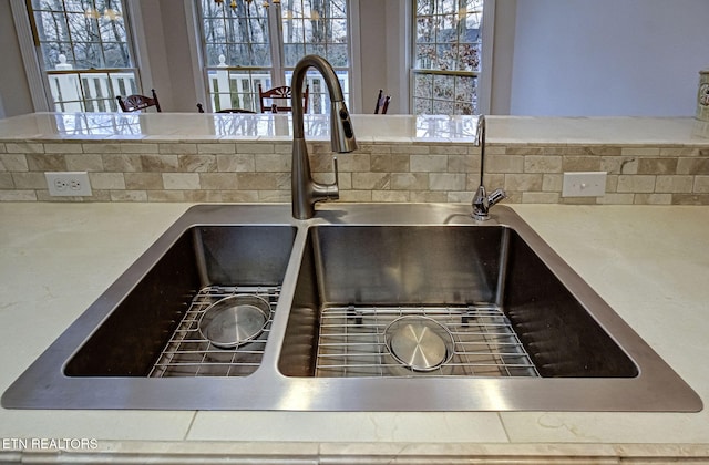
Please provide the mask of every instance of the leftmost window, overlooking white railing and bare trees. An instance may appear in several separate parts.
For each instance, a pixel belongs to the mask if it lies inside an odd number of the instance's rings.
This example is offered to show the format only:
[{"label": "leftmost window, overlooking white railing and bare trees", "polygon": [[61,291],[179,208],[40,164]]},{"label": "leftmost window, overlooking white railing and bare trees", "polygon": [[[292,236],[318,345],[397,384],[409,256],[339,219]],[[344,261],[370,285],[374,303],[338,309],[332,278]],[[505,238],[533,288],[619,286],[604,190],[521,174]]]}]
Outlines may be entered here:
[{"label": "leftmost window, overlooking white railing and bare trees", "polygon": [[56,112],[114,112],[137,92],[121,0],[28,2],[35,45]]}]

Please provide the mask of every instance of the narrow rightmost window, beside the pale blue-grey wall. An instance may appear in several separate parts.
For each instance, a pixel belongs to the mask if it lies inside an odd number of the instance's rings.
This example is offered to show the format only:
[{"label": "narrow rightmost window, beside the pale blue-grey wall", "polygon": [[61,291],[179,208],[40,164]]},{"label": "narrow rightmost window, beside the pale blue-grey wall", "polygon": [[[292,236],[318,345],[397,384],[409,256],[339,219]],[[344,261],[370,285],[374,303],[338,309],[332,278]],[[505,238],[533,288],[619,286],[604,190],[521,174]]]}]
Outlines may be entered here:
[{"label": "narrow rightmost window, beside the pale blue-grey wall", "polygon": [[415,0],[415,114],[476,114],[483,0]]}]

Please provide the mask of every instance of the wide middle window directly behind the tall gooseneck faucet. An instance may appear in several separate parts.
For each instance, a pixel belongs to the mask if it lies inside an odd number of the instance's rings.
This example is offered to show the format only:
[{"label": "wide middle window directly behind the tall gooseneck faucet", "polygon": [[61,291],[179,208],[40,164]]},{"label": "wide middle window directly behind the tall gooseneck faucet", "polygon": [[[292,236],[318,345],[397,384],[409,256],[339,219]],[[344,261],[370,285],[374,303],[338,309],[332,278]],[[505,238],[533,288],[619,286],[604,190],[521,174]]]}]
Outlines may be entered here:
[{"label": "wide middle window directly behind the tall gooseneck faucet", "polygon": [[[346,99],[350,89],[347,0],[197,0],[207,93],[214,111],[259,111],[264,90],[289,85],[307,54],[332,64]],[[309,72],[310,113],[329,111],[327,87]]]}]

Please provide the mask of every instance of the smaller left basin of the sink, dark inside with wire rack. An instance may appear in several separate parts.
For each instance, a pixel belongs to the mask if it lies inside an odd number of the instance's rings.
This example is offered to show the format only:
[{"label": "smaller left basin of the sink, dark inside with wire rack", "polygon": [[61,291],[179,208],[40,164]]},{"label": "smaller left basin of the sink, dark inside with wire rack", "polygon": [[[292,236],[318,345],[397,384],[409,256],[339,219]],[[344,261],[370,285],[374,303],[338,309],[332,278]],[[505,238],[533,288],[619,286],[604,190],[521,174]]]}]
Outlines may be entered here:
[{"label": "smaller left basin of the sink, dark inside with wire rack", "polygon": [[72,356],[69,376],[247,375],[260,362],[270,313],[257,338],[223,349],[199,321],[210,304],[256,294],[276,308],[295,229],[193,226],[137,280]]}]

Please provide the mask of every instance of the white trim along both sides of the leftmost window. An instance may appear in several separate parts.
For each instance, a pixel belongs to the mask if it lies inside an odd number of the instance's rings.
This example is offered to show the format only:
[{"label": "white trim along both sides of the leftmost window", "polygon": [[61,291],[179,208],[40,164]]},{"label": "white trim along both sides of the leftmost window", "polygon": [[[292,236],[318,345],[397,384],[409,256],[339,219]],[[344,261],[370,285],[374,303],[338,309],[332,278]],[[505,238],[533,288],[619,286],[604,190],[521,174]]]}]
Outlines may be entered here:
[{"label": "white trim along both sides of the leftmost window", "polygon": [[[147,58],[147,45],[145,37],[141,33],[143,30],[143,14],[138,0],[123,0],[124,7],[129,14],[129,28],[131,29],[131,39],[133,41],[133,54],[135,60],[135,69],[137,70],[137,79],[141,89],[145,89],[145,82],[152,82],[152,72]],[[27,83],[30,87],[32,96],[32,106],[34,112],[53,112],[54,102],[49,92],[49,82],[47,74],[42,71],[40,56],[37,53],[34,38],[30,27],[29,11],[24,0],[10,0],[12,9],[12,20],[20,43],[20,53],[22,55],[22,64],[27,74]],[[141,27],[138,27],[138,24]]]}]

